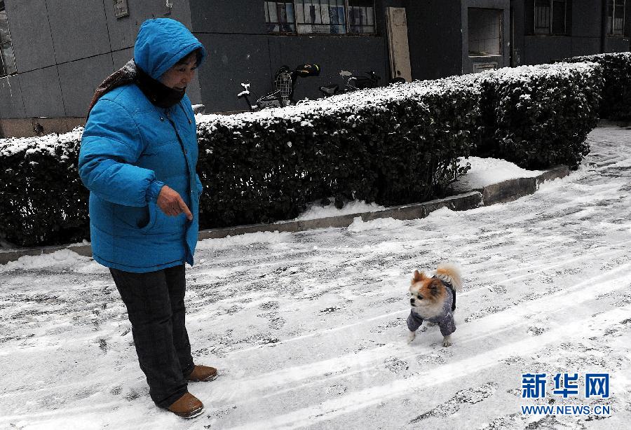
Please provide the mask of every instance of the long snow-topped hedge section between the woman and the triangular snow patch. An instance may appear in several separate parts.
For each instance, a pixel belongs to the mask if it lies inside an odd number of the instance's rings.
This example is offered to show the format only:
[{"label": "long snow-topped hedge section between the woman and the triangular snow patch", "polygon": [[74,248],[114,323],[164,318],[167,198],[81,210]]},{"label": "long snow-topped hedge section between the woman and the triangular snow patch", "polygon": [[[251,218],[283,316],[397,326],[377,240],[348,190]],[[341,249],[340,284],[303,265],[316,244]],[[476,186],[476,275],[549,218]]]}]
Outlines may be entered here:
[{"label": "long snow-topped hedge section between the woman and the triangular snow patch", "polygon": [[384,205],[440,196],[466,171],[456,160],[470,154],[477,101],[470,83],[442,79],[203,117],[201,221],[292,219],[331,196]]}]

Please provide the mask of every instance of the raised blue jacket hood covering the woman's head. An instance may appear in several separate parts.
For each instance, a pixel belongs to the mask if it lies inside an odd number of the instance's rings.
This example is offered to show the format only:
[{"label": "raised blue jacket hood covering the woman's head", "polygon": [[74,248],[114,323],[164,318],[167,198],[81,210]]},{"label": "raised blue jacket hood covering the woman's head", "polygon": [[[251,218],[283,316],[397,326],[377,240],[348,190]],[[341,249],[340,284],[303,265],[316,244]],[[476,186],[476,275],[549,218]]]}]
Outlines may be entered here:
[{"label": "raised blue jacket hood covering the woman's head", "polygon": [[206,50],[189,29],[176,20],[156,18],[140,26],[134,45],[134,61],[158,81],[165,71],[196,49],[201,49],[200,65]]}]

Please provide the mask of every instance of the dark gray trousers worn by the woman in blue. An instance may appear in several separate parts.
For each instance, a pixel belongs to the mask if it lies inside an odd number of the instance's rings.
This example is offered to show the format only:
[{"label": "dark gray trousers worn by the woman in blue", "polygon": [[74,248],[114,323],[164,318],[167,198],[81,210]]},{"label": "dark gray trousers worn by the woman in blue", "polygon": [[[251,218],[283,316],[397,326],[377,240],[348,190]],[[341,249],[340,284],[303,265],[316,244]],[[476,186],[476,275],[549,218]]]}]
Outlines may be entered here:
[{"label": "dark gray trousers worn by the woman in blue", "polygon": [[149,395],[168,408],[186,393],[186,377],[194,367],[184,324],[184,265],[147,273],[109,272],[127,307]]}]

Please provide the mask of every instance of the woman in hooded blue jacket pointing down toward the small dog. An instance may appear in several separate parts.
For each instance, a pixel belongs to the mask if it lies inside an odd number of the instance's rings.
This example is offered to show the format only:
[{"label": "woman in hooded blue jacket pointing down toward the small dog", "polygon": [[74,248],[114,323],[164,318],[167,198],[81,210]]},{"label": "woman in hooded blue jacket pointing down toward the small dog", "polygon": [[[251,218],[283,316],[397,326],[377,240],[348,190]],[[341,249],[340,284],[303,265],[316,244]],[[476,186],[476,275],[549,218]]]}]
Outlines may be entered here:
[{"label": "woman in hooded blue jacket pointing down toward the small dog", "polygon": [[81,139],[95,261],[109,268],[128,310],[140,368],[156,405],[194,417],[196,366],[184,325],[184,263],[193,265],[202,186],[186,85],[206,51],[175,20],[147,20],[134,58],[97,89]]}]

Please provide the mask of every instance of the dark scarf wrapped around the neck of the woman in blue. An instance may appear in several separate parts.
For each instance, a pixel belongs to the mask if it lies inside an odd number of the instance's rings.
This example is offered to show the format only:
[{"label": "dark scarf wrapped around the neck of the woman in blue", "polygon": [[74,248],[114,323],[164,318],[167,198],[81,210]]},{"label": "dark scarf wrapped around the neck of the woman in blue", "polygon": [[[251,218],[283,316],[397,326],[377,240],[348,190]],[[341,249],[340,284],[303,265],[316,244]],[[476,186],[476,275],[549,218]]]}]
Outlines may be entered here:
[{"label": "dark scarf wrapped around the neck of the woman in blue", "polygon": [[134,60],[129,60],[121,69],[109,75],[96,89],[92,101],[90,102],[90,107],[88,108],[88,116],[96,102],[98,102],[103,95],[114,90],[114,88],[127,85],[128,83],[138,85],[138,88],[140,88],[145,97],[147,97],[151,103],[161,108],[170,108],[178,104],[186,93],[186,90],[168,88],[168,86],[160,81],[151,78],[151,76],[146,74],[140,67],[137,67]]}]

